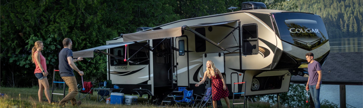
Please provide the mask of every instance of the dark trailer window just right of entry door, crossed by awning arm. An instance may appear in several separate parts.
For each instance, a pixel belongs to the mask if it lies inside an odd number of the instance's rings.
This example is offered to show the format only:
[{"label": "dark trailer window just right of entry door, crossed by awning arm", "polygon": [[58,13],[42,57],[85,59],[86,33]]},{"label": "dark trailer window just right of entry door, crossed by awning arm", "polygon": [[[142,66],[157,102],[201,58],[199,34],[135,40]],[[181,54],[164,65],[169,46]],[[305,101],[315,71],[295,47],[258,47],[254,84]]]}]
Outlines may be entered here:
[{"label": "dark trailer window just right of entry door, crossed by awning arm", "polygon": [[[196,32],[205,37],[205,28],[200,27],[195,29]],[[195,34],[195,52],[205,52],[205,40]]]}]

